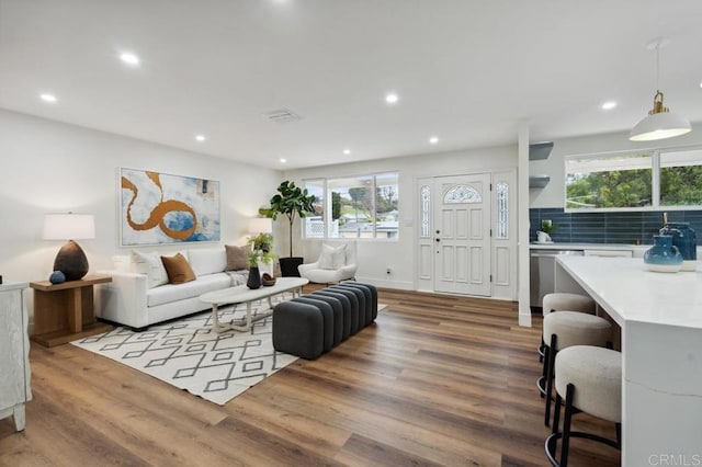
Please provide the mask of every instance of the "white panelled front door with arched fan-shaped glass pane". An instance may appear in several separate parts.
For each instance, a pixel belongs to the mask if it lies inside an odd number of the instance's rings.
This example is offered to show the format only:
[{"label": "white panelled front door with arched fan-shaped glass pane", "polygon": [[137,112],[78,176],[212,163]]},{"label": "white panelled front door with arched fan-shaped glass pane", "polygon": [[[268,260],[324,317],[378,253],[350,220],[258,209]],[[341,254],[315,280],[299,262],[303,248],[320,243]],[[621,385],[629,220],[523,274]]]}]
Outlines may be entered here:
[{"label": "white panelled front door with arched fan-shaped glass pane", "polygon": [[434,291],[490,295],[490,174],[434,179]]}]

